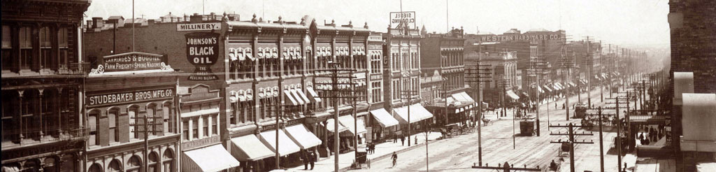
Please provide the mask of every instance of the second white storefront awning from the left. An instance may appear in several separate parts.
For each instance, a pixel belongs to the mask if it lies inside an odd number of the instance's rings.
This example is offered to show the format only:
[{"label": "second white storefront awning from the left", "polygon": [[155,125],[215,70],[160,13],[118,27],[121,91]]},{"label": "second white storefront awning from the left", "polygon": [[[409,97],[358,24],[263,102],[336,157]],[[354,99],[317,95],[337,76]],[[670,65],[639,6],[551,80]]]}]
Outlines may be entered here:
[{"label": "second white storefront awning from the left", "polygon": [[275,155],[274,151],[271,151],[271,149],[261,143],[261,140],[256,138],[256,135],[243,135],[241,137],[231,138],[231,143],[233,143],[231,155],[238,159],[238,161],[256,161]]}]

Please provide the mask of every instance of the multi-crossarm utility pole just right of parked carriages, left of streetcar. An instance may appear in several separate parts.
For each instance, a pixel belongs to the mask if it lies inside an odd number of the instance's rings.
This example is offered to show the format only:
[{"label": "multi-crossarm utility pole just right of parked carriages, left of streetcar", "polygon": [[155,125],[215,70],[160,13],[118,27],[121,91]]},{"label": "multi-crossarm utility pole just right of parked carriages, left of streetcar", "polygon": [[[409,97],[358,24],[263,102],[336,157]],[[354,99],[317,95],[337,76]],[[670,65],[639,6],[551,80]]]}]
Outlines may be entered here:
[{"label": "multi-crossarm utility pole just right of parked carriages, left of streetcar", "polygon": [[[482,54],[480,54],[482,55]],[[490,65],[480,65],[480,56],[478,56],[478,64],[465,67],[465,82],[477,85],[478,89],[478,163],[483,164],[483,138],[482,138],[482,118],[483,118],[483,90],[480,88],[483,82],[490,82],[490,74],[492,74]],[[485,80],[481,80],[485,79]],[[447,106],[446,106],[447,107]]]}]

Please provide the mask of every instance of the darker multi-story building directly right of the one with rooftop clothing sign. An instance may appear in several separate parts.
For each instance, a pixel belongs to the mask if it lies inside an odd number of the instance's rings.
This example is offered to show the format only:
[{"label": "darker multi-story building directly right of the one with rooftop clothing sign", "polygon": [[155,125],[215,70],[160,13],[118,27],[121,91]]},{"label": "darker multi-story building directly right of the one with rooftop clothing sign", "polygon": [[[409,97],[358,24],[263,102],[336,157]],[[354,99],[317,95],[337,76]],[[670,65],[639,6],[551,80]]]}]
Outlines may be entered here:
[{"label": "darker multi-story building directly right of the one with rooftop clothing sign", "polygon": [[429,82],[421,82],[421,90],[425,90],[421,93],[426,93],[422,95],[423,104],[435,114],[438,124],[465,122],[470,119],[470,108],[476,106],[473,105],[475,100],[466,92],[474,90],[465,87],[464,30],[453,28],[447,34],[428,34],[423,27],[422,34],[421,80]]}]

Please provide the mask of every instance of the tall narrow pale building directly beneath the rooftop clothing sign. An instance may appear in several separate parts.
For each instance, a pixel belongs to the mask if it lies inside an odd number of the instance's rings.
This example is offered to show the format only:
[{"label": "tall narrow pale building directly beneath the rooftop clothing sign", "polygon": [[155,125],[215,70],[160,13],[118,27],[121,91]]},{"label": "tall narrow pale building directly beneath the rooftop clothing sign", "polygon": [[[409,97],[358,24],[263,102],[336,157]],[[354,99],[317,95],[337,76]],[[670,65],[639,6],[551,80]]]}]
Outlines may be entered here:
[{"label": "tall narrow pale building directly beneath the rooftop clothing sign", "polygon": [[408,135],[409,126],[419,129],[421,123],[417,122],[432,118],[420,105],[420,39],[420,30],[405,23],[389,26],[383,34],[384,108],[400,121],[398,135]]}]

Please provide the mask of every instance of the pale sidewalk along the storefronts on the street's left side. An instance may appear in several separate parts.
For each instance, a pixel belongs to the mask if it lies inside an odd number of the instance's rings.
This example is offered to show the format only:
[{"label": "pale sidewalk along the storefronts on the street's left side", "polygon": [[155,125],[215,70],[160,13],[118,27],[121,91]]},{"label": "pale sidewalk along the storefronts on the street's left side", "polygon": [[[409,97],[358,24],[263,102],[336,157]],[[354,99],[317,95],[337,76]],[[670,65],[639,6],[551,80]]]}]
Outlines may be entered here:
[{"label": "pale sidewalk along the storefronts on the street's left side", "polygon": [[[410,140],[415,141],[415,136],[417,136],[418,144],[412,144],[410,147],[407,146],[407,142],[405,143],[405,146],[400,143],[400,140],[398,140],[397,143],[393,143],[392,141],[386,142],[386,143],[379,143],[375,145],[375,153],[368,154],[368,159],[370,161],[377,161],[382,158],[390,158],[393,152],[396,152],[398,154],[408,151],[412,148],[420,148],[421,146],[425,146],[425,133],[417,133],[414,135],[410,135]],[[442,136],[439,132],[431,132],[430,135],[427,135],[427,139],[433,142],[437,138],[440,138]],[[355,151],[351,151],[349,153],[343,153],[339,155],[339,168],[340,171],[346,171],[348,168],[350,168],[351,164],[353,163],[355,159]],[[315,163],[314,170],[313,171],[334,171],[334,156],[329,156],[329,158],[321,158],[318,162]],[[309,167],[310,168],[310,167]],[[306,171],[304,170],[304,166],[297,166],[294,168],[289,168],[287,171]]]}]

